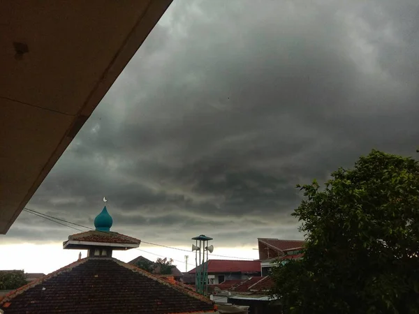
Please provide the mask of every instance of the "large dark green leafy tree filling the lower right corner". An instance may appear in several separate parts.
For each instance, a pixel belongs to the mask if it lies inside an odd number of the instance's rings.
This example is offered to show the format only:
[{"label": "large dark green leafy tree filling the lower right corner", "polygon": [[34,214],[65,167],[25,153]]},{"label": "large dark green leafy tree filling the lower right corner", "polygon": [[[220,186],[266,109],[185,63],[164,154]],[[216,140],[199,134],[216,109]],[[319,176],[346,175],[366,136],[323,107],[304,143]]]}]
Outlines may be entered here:
[{"label": "large dark green leafy tree filling the lower right corner", "polygon": [[419,165],[373,150],[304,200],[304,258],[277,264],[284,313],[419,313]]}]

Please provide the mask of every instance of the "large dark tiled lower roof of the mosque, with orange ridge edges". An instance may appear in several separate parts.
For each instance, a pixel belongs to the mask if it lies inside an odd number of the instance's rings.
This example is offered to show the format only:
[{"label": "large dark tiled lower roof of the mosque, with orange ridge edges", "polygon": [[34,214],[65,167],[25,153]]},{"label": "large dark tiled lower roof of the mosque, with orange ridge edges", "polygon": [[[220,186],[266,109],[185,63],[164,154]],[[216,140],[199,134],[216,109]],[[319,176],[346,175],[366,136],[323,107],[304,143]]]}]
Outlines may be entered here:
[{"label": "large dark tiled lower roof of the mosque, with orange ridge edges", "polygon": [[0,300],[14,313],[212,313],[209,299],[114,258],[88,257]]}]

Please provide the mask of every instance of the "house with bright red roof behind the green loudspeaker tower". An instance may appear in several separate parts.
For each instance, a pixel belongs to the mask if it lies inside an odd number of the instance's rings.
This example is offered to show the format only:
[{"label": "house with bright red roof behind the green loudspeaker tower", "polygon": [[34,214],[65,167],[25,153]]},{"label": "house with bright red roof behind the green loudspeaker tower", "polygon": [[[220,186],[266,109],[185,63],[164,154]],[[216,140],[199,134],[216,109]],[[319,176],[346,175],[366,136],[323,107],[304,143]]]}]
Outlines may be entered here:
[{"label": "house with bright red roof behind the green loudspeaker tower", "polygon": [[[243,281],[253,276],[260,276],[258,260],[208,260],[205,262],[209,285],[218,285],[225,281]],[[196,268],[189,271],[196,274]]]}]

